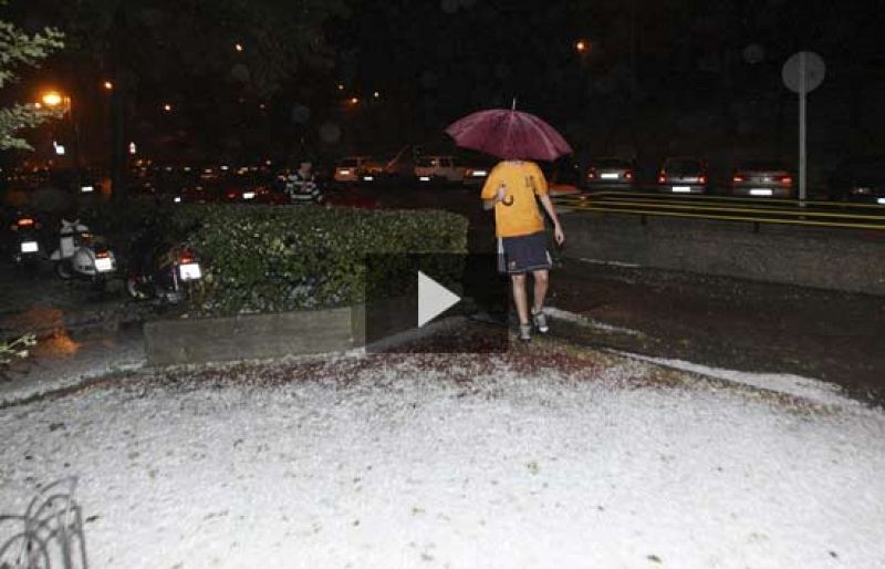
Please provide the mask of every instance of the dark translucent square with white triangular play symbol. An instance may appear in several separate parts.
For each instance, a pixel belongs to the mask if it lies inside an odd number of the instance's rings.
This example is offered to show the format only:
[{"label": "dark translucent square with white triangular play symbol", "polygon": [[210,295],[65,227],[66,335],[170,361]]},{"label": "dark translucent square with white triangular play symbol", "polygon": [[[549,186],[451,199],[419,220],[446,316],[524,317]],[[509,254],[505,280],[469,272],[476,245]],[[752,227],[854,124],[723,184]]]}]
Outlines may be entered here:
[{"label": "dark translucent square with white triangular play symbol", "polygon": [[369,353],[504,352],[508,291],[493,255],[369,255],[356,340]]}]

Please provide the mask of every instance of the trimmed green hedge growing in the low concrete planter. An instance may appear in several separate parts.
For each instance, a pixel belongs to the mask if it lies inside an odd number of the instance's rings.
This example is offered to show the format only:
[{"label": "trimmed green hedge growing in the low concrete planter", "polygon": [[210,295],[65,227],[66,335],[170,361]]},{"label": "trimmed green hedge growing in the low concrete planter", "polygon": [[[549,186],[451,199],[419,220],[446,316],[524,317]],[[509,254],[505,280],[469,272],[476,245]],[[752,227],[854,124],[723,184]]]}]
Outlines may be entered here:
[{"label": "trimmed green hedge growing in the low concrete planter", "polygon": [[[361,302],[367,280],[384,282],[384,275],[367,277],[367,255],[467,250],[467,219],[445,211],[223,205],[177,210],[179,227],[195,223],[199,228],[187,240],[202,256],[207,275],[191,296],[191,310],[202,314]],[[389,259],[408,263],[405,257]]]}]

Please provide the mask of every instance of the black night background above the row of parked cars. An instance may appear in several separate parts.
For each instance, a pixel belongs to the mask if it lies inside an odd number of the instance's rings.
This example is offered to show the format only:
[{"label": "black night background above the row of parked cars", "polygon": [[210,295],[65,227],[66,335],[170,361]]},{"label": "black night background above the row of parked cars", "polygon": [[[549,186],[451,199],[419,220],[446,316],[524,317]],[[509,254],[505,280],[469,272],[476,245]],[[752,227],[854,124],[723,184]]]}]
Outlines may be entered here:
[{"label": "black night background above the row of parked cars", "polygon": [[[72,93],[90,164],[128,141],[177,162],[450,149],[447,124],[513,99],[579,157],[793,159],[796,95],[781,66],[799,50],[827,65],[809,96],[812,180],[885,146],[874,1],[20,0],[6,12],[69,33],[6,96]],[[34,133],[38,149],[61,128]]]}]

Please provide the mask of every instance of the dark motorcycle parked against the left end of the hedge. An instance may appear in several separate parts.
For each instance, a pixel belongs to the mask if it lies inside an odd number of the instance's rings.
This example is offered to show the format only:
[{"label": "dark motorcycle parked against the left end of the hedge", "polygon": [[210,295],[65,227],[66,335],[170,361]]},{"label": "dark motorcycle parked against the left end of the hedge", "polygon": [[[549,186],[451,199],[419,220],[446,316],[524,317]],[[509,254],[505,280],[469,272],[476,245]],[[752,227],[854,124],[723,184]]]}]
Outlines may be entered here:
[{"label": "dark motorcycle parked against the left end of the hedge", "polygon": [[202,279],[202,268],[194,252],[166,242],[147,247],[126,278],[126,292],[136,300],[156,299],[178,304],[191,287]]}]

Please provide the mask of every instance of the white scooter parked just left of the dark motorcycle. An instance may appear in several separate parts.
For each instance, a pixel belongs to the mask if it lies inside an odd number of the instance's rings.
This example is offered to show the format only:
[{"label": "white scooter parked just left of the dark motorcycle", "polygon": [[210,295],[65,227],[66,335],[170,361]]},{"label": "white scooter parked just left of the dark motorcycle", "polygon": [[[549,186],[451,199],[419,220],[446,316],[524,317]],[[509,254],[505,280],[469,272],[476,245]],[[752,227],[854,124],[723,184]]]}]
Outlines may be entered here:
[{"label": "white scooter parked just left of the dark motorcycle", "polygon": [[104,284],[116,271],[113,251],[90,232],[79,219],[62,219],[59,248],[50,256],[55,262],[55,273],[64,279],[83,279]]}]

